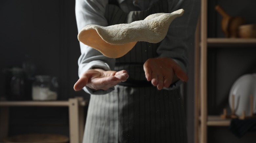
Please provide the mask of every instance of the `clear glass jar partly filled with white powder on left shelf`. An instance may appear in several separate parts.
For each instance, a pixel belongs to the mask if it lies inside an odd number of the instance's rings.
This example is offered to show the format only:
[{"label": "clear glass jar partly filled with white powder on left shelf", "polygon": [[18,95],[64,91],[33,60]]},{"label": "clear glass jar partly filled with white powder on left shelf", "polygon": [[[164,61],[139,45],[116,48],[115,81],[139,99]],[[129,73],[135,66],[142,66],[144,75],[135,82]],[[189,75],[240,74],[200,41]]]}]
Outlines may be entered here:
[{"label": "clear glass jar partly filled with white powder on left shelf", "polygon": [[33,100],[56,100],[58,82],[56,77],[37,75],[32,84]]}]

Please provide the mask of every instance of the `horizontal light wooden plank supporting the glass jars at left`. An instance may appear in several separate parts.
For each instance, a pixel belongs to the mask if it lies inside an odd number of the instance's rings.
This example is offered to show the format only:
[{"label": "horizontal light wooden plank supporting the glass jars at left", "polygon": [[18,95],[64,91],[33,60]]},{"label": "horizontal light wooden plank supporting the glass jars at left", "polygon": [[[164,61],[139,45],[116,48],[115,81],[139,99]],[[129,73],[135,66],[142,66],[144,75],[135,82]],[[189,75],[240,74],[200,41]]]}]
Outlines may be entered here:
[{"label": "horizontal light wooden plank supporting the glass jars at left", "polygon": [[[69,101],[0,101],[0,106],[69,106]],[[79,101],[79,106],[87,105],[86,101]]]}]

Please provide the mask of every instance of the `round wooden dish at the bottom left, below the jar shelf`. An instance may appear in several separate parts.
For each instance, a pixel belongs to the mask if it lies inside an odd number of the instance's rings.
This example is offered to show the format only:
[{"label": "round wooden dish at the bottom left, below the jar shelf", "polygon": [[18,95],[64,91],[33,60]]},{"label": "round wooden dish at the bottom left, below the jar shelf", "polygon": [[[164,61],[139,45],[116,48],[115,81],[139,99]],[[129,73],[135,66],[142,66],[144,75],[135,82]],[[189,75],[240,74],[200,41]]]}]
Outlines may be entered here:
[{"label": "round wooden dish at the bottom left, below the jar shelf", "polygon": [[69,138],[55,134],[26,134],[5,138],[6,143],[67,143]]}]

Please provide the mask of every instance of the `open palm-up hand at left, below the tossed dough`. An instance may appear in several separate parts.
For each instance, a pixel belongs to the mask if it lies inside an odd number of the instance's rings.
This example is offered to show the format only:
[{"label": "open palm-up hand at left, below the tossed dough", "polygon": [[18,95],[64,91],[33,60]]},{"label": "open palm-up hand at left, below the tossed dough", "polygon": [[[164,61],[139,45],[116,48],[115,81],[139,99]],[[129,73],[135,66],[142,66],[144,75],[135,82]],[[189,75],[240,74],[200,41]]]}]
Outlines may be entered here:
[{"label": "open palm-up hand at left, below the tossed dough", "polygon": [[129,77],[127,71],[104,71],[102,69],[92,69],[83,73],[74,85],[76,91],[87,86],[91,89],[107,90],[116,86],[117,83],[126,81]]}]

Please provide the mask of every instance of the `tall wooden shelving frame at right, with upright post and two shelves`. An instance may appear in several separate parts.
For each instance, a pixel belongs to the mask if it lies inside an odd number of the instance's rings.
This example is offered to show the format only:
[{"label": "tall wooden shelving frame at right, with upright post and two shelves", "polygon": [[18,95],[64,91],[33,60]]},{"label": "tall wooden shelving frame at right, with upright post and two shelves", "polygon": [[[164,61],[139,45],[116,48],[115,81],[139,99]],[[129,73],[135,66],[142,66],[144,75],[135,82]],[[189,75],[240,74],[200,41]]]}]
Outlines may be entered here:
[{"label": "tall wooden shelving frame at right, with upright post and two shelves", "polygon": [[207,143],[207,126],[229,126],[230,119],[207,114],[207,49],[256,46],[256,38],[207,38],[207,0],[201,0],[201,15],[195,34],[195,143]]}]

